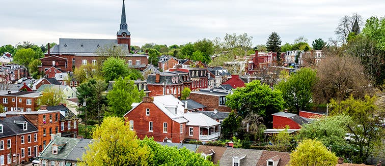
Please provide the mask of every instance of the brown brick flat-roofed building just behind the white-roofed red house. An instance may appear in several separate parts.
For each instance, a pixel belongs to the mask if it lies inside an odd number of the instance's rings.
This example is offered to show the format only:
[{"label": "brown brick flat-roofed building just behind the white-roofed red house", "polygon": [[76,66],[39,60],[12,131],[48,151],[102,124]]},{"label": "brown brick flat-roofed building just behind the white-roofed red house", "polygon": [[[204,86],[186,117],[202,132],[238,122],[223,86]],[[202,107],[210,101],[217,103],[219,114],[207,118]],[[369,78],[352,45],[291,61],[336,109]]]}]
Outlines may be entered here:
[{"label": "brown brick flat-roofed building just behind the white-roofed red house", "polygon": [[231,112],[231,109],[226,106],[226,96],[230,92],[226,90],[200,89],[199,91],[191,91],[190,99],[206,106],[205,110],[218,110],[221,112]]}]

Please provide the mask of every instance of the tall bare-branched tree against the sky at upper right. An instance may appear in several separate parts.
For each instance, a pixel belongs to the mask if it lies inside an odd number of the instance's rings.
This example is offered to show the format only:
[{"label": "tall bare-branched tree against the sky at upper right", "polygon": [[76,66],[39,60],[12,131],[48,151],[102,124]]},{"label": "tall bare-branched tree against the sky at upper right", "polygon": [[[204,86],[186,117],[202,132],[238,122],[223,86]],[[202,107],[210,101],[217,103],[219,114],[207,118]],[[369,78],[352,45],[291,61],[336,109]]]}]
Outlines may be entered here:
[{"label": "tall bare-branched tree against the sky at upper right", "polygon": [[[362,25],[362,21],[363,21],[362,16],[357,13],[353,13],[352,16],[345,15],[344,17],[341,18],[340,23],[338,24],[335,30],[335,34],[337,35],[341,43],[343,44],[347,43],[349,34],[350,32],[353,31],[353,26],[355,21],[357,22],[358,25]],[[355,34],[355,35],[358,35],[358,34]]]}]

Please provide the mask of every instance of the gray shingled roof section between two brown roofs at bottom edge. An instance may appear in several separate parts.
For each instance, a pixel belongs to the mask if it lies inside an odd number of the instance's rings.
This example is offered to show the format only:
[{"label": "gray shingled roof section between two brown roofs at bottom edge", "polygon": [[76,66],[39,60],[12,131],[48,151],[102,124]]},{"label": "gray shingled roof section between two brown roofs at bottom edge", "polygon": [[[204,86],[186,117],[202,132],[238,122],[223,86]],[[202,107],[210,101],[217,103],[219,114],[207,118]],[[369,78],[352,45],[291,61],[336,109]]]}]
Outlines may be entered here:
[{"label": "gray shingled roof section between two brown roofs at bottom edge", "polygon": [[232,165],[233,157],[244,157],[240,160],[239,165],[257,165],[259,158],[262,155],[262,150],[255,149],[240,149],[227,148],[222,158],[219,160],[219,165]]}]

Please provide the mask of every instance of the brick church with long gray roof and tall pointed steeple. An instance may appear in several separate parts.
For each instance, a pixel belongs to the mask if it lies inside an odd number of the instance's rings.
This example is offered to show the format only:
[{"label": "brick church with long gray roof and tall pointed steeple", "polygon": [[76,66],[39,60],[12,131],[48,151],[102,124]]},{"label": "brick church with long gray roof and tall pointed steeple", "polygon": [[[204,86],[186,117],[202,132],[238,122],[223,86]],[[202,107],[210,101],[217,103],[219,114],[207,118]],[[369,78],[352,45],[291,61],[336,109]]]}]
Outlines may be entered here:
[{"label": "brick church with long gray roof and tall pointed steeple", "polygon": [[105,57],[95,52],[104,47],[122,47],[127,54],[122,58],[126,60],[130,68],[145,69],[148,64],[148,55],[131,54],[131,33],[128,31],[126,11],[123,0],[120,29],[116,34],[117,39],[59,39],[59,44],[49,48],[45,57],[41,58],[42,65],[39,66],[42,72],[56,68],[61,72],[73,72],[81,65],[100,65]]}]

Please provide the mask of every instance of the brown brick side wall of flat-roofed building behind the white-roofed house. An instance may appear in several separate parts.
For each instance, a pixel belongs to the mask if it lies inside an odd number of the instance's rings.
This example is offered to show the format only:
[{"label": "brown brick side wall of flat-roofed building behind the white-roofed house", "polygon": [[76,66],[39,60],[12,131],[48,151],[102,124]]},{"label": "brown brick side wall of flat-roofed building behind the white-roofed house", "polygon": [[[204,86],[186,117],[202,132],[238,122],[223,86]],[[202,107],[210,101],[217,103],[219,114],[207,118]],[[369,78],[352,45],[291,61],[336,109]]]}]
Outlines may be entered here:
[{"label": "brown brick side wall of flat-roofed building behind the white-roofed house", "polygon": [[206,110],[213,111],[218,109],[221,112],[231,112],[231,109],[227,106],[219,106],[219,96],[205,95],[198,93],[190,93],[190,99],[207,106]]}]

